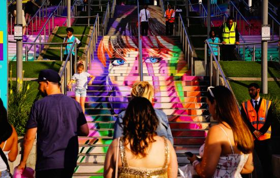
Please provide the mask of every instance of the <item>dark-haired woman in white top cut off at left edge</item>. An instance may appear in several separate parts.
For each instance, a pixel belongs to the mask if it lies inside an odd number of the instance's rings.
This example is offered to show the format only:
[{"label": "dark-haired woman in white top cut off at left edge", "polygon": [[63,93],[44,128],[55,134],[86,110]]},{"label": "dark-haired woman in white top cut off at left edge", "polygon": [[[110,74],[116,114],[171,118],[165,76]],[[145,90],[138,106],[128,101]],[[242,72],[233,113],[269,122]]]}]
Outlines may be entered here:
[{"label": "dark-haired woman in white top cut off at left edge", "polygon": [[[5,109],[2,100],[0,99],[0,147],[3,150],[7,159],[11,162],[17,157],[17,133],[13,126],[8,123],[7,110]],[[0,157],[0,177],[9,178],[7,165]]]}]

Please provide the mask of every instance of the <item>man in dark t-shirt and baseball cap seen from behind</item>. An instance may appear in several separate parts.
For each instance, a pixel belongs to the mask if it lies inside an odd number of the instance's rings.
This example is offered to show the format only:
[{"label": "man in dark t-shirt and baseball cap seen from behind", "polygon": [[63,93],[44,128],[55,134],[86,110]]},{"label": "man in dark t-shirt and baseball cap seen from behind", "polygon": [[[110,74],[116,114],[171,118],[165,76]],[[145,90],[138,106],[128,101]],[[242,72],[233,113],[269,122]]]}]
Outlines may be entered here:
[{"label": "man in dark t-shirt and baseball cap seen from behind", "polygon": [[82,108],[74,99],[60,92],[57,72],[39,73],[41,100],[34,103],[23,142],[23,156],[18,165],[24,169],[37,132],[36,177],[72,177],[78,156],[78,136],[88,135]]}]

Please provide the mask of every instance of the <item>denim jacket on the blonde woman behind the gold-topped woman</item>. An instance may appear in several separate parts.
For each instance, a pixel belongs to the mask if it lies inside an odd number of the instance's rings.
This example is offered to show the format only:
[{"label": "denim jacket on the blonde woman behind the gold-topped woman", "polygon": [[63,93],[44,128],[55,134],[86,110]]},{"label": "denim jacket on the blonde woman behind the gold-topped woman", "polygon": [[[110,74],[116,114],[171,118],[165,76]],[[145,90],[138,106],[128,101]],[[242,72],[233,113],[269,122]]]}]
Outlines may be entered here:
[{"label": "denim jacket on the blonde woman behind the gold-topped woman", "polygon": [[[157,114],[158,119],[159,119],[159,125],[155,132],[158,134],[158,136],[165,136],[167,139],[169,139],[169,141],[173,145],[173,136],[171,133],[170,126],[168,124],[167,115],[162,110],[159,110],[159,109],[154,109],[154,111],[155,111],[155,114]],[[126,111],[120,112],[116,118],[113,139],[122,136],[122,133],[123,133],[122,118],[125,116],[125,113],[126,113]]]}]

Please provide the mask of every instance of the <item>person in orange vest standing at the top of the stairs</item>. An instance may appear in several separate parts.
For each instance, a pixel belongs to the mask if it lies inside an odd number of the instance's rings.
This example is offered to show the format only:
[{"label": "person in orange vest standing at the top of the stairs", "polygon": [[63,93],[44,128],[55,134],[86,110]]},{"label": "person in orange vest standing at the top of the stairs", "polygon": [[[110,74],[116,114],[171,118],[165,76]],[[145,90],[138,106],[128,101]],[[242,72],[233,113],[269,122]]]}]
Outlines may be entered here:
[{"label": "person in orange vest standing at the top of the stairs", "polygon": [[172,36],[175,21],[175,10],[168,5],[168,9],[164,13],[165,17],[165,35]]}]

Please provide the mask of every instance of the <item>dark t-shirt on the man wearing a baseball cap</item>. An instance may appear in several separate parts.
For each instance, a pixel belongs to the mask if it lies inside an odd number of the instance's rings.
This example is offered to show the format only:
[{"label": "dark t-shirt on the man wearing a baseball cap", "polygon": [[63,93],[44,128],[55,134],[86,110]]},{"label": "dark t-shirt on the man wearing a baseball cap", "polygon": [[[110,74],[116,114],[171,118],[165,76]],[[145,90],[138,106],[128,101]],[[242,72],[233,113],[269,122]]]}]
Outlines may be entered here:
[{"label": "dark t-shirt on the man wearing a baseball cap", "polygon": [[36,170],[77,165],[78,128],[86,124],[80,104],[63,95],[48,95],[34,103],[26,128],[37,128]]}]

